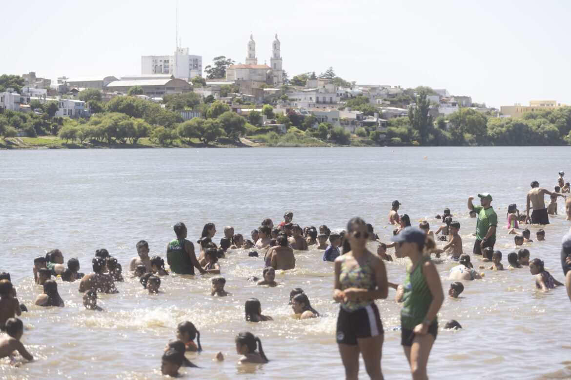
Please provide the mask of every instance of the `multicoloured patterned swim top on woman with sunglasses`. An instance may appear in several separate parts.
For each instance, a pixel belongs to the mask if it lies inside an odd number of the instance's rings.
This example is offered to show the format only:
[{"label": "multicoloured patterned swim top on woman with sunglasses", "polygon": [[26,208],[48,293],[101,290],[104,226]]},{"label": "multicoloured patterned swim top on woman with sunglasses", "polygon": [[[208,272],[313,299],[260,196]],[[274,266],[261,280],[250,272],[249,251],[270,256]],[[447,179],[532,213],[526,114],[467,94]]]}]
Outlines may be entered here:
[{"label": "multicoloured patterned swim top on woman with sunglasses", "polygon": [[[363,265],[356,268],[347,268],[345,266],[345,259],[347,256],[341,256],[341,271],[339,273],[339,281],[341,283],[341,290],[347,288],[361,288],[374,290],[377,287],[375,275],[373,275],[373,268],[371,267],[371,257],[369,257]],[[348,312],[353,312],[371,305],[373,300],[358,298],[356,300],[348,300],[341,302],[341,308]]]}]

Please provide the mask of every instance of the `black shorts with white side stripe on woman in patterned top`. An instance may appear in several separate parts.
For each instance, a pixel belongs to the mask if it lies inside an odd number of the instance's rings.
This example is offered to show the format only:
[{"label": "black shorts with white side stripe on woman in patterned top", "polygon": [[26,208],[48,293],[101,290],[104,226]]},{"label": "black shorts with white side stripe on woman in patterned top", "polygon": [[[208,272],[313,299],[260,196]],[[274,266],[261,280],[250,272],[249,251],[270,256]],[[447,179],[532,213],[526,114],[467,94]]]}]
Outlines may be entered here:
[{"label": "black shorts with white side stripe on woman in patterned top", "polygon": [[383,334],[383,323],[375,304],[354,312],[339,309],[337,317],[337,343],[357,345],[357,339]]}]

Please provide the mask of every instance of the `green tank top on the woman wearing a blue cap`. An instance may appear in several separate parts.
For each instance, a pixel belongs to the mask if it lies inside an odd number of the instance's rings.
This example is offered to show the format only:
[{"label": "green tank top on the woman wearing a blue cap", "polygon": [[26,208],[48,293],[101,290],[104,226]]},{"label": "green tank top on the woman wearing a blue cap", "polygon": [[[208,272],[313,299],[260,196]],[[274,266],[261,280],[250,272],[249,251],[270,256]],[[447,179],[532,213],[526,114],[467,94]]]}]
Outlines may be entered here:
[{"label": "green tank top on the woman wearing a blue cap", "polygon": [[[428,308],[432,303],[432,293],[424,278],[422,267],[428,256],[420,260],[415,271],[409,272],[404,280],[403,308],[400,310],[400,324],[403,329],[413,330],[416,325],[422,323],[427,315]],[[437,322],[435,317],[432,322]]]}]

